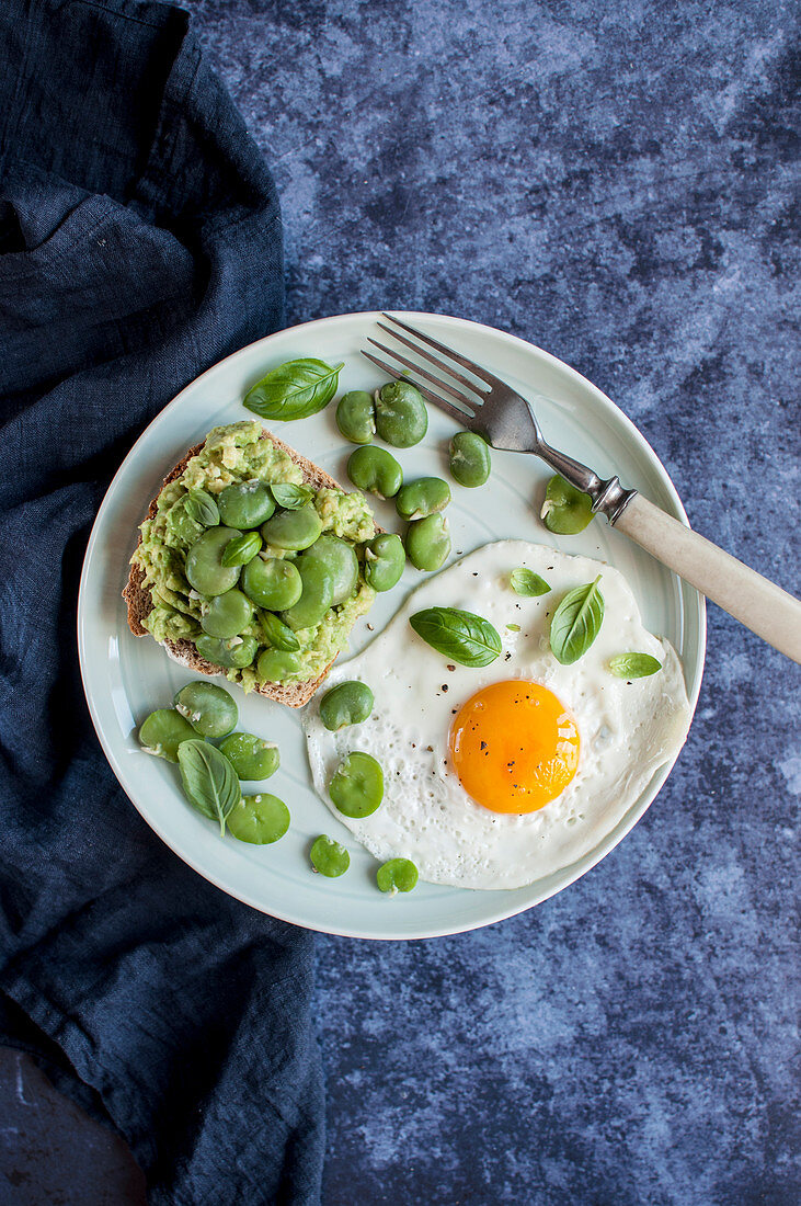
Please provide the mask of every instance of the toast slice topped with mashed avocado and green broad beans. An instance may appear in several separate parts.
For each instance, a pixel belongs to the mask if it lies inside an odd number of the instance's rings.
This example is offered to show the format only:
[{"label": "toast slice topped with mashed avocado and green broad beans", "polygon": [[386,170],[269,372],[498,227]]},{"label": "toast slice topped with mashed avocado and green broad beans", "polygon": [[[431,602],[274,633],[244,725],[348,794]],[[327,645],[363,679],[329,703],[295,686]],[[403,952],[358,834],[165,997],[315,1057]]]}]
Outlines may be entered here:
[{"label": "toast slice topped with mashed avocado and green broad beans", "polygon": [[[241,569],[231,569],[225,579],[234,582],[231,589],[226,587],[229,593],[232,591],[238,602],[242,602],[238,597],[243,596],[243,605],[251,611],[249,619],[231,639],[216,640],[207,636],[212,627],[210,613],[217,608],[218,597],[225,590],[214,586],[213,592],[204,593],[192,585],[190,554],[196,560],[193,550],[204,543],[216,543],[223,552],[224,546],[230,544],[226,540],[229,529],[220,523],[220,511],[225,517],[224,492],[231,486],[235,487],[234,493],[248,488],[265,492],[264,487],[276,486],[277,498],[288,507],[283,509],[278,503],[275,514],[275,504],[271,504],[270,520],[259,526],[260,537],[257,537],[253,523],[230,528],[231,539],[238,538],[240,541],[247,528],[252,541],[260,548],[251,558],[252,568],[245,564]],[[289,498],[293,487],[294,493],[301,496],[294,503]],[[210,514],[192,505],[201,496]],[[296,509],[305,499],[305,505]],[[313,521],[312,534],[317,532],[317,538],[308,544],[283,539],[279,528],[291,525],[302,510]],[[202,444],[189,449],[167,474],[140,526],[137,548],[123,591],[129,627],[137,637],[154,637],[171,657],[200,674],[222,674],[246,691],[258,691],[293,708],[302,707],[346,646],[355,620],[372,605],[375,591],[365,581],[364,555],[366,543],[378,531],[361,493],[342,491],[329,474],[265,431],[260,422],[246,421],[214,428]],[[278,545],[272,545],[271,539]],[[308,537],[305,539],[308,541]],[[304,546],[287,548],[287,544]],[[222,555],[212,552],[217,567],[224,566]],[[311,562],[316,561],[317,573],[322,573],[329,590],[328,569],[325,564],[320,567],[320,560],[330,561],[331,555],[340,563],[338,568],[334,567],[337,581],[330,605],[324,607],[319,617],[310,616],[308,608],[301,613],[299,605],[273,613],[260,605],[263,596],[248,586],[263,566],[283,568],[293,575],[295,570],[288,564],[296,566],[306,581],[310,575],[305,570],[311,570]],[[342,566],[347,570],[344,582]],[[310,585],[310,595],[311,590]],[[326,598],[322,599],[323,605]],[[278,649],[283,645],[283,654],[277,654],[276,642]],[[210,646],[224,649],[228,665],[212,660]],[[251,649],[253,656],[247,660]],[[234,662],[231,650],[238,655]],[[276,672],[278,665],[281,673]]]}]

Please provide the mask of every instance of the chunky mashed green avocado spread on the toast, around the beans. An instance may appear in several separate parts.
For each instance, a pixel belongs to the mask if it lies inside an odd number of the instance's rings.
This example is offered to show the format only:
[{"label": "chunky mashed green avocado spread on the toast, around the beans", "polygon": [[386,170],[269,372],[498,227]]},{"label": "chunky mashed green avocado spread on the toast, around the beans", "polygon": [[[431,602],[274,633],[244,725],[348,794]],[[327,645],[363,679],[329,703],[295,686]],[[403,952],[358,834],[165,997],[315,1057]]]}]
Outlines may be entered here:
[{"label": "chunky mashed green avocado spread on the toast, around the beans", "polygon": [[[175,481],[164,486],[157,500],[153,519],[141,525],[142,539],[131,562],[143,575],[143,587],[149,591],[152,610],[142,621],[158,642],[192,640],[204,636],[201,619],[208,599],[193,590],[187,580],[187,554],[206,528],[187,509],[190,491],[202,490],[219,496],[235,482],[260,481],[265,485],[278,482],[304,484],[304,475],[282,449],[270,439],[260,439],[261,423],[245,421],[216,427],[206,437],[200,452],[193,456],[184,472]],[[370,610],[375,591],[364,579],[364,541],[376,532],[372,513],[359,492],[322,488],[314,492],[312,505],[322,521],[323,534],[338,537],[353,545],[359,562],[359,574],[353,595],[336,607],[330,607],[316,627],[296,632],[300,649],[296,668],[281,679],[283,684],[306,683],[317,678],[329,662],[346,646],[348,634],[360,615]],[[213,509],[213,508],[212,508]],[[295,552],[284,549],[263,548],[258,556],[290,557]],[[230,668],[225,677],[252,691],[257,683],[259,654],[270,648],[265,630],[271,613],[253,609],[253,620],[240,637],[254,638],[258,650],[248,666]],[[251,645],[253,642],[249,643]]]}]

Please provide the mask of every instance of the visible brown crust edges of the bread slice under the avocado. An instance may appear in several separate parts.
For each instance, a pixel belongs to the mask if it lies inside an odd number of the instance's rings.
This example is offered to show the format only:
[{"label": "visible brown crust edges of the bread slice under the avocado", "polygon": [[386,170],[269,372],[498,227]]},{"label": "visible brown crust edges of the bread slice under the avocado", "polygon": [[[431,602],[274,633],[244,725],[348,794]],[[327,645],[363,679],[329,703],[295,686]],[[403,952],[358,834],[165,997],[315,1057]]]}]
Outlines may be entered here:
[{"label": "visible brown crust edges of the bread slice under the avocado", "polygon": [[[285,452],[291,461],[298,466],[304,475],[304,481],[313,486],[314,490],[322,490],[323,486],[328,486],[332,490],[341,490],[342,487],[331,478],[324,469],[320,469],[318,464],[313,461],[308,461],[300,452],[289,447],[283,440],[279,440],[277,435],[273,435],[266,429],[263,432],[260,439],[271,440],[276,447]],[[187,464],[193,456],[196,456],[201,449],[202,444],[195,444],[194,447],[189,449],[187,455],[183,457],[178,464],[170,470],[170,473],[164,479],[164,485],[167,486],[187,468]],[[160,493],[160,491],[159,491]],[[151,520],[155,515],[157,498],[154,498],[148,507],[146,519]],[[376,531],[379,531],[376,528]],[[141,544],[142,535],[140,533],[137,545]],[[134,564],[130,568],[128,575],[128,582],[125,590],[123,591],[123,598],[128,604],[128,627],[134,633],[135,637],[148,637],[149,633],[143,626],[142,620],[149,614],[153,604],[151,602],[151,592],[142,585],[145,579],[143,572],[139,566]],[[225,671],[220,666],[214,666],[212,662],[207,662],[205,657],[201,657],[195,646],[190,640],[165,640],[164,648],[176,662],[181,662],[187,669],[194,671],[198,674],[225,674]],[[254,690],[260,695],[267,696],[270,699],[275,699],[277,703],[285,703],[289,708],[302,708],[304,704],[308,703],[318,686],[326,678],[328,672],[334,665],[335,658],[332,658],[322,674],[317,678],[310,679],[308,683],[290,683],[287,686],[281,686],[278,683],[263,683],[255,685]]]}]

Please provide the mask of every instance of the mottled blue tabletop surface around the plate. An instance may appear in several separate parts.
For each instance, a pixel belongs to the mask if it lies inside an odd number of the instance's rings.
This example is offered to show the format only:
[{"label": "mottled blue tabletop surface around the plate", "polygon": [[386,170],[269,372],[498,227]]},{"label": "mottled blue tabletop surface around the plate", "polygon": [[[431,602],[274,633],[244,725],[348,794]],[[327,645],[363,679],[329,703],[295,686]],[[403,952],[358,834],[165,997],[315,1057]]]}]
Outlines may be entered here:
[{"label": "mottled blue tabletop surface around the plate", "polygon": [[[190,7],[276,174],[290,322],[532,340],[797,590],[790,5]],[[595,871],[482,932],[319,941],[329,1206],[797,1200],[797,691],[711,608],[688,747]]]}]

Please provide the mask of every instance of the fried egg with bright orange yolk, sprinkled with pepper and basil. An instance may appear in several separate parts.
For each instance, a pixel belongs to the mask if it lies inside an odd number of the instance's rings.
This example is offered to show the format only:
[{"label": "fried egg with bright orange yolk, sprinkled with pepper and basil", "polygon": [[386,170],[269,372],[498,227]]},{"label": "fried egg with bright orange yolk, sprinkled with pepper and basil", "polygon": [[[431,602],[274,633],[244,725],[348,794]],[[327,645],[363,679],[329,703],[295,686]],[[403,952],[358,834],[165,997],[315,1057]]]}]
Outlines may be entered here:
[{"label": "fried egg with bright orange yolk, sprinkled with pepper and basil", "polygon": [[[550,591],[516,595],[510,574],[518,567]],[[601,630],[563,666],[550,650],[550,616],[567,591],[599,574]],[[489,620],[500,657],[475,669],[434,650],[408,622],[429,607]],[[609,658],[628,652],[650,654],[661,669],[616,678]],[[485,545],[426,579],[364,652],[335,667],[326,689],[348,679],[370,686],[373,712],[331,733],[318,701],[310,704],[304,724],[318,794],[377,859],[411,859],[422,879],[459,888],[522,888],[593,850],[678,754],[690,721],[676,650],[643,627],[624,575],[525,540]],[[343,816],[328,795],[353,750],[384,771],[383,802],[361,819]]]}]

